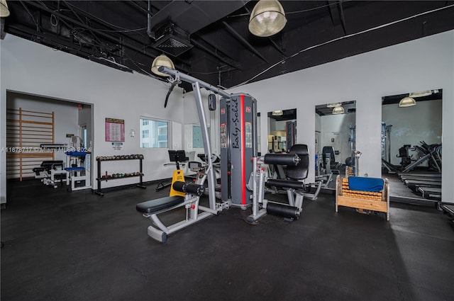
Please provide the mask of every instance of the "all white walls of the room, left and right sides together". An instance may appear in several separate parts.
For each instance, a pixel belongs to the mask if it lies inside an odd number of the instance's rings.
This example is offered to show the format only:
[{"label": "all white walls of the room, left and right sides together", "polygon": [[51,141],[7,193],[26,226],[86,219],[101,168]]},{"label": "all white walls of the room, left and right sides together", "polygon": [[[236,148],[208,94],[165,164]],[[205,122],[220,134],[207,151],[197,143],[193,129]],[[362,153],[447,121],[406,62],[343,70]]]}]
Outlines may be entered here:
[{"label": "all white walls of the room, left and right sides together", "polygon": [[[104,118],[125,120],[126,132],[138,132],[139,115],[159,117],[186,123],[181,89],[170,96],[163,108],[167,85],[148,76],[128,74],[96,65],[49,47],[12,35],[0,41],[0,132],[4,133],[6,90],[94,103],[94,157],[115,154],[104,142]],[[291,62],[288,62],[291,63]],[[151,64],[151,62],[150,62]],[[314,154],[315,106],[332,103],[333,99],[356,100],[356,145],[362,152],[360,174],[381,176],[382,96],[443,89],[443,148],[454,151],[454,30],[405,42],[362,55],[348,57],[299,72],[241,86],[232,91],[249,93],[258,100],[258,112],[266,116],[272,110],[297,108],[297,141],[309,145]],[[295,101],[298,99],[299,101]],[[189,123],[192,123],[189,122]],[[182,131],[182,130],[181,130]],[[214,131],[211,131],[214,132]],[[1,144],[4,145],[4,135]],[[260,136],[267,137],[262,123]],[[182,142],[179,142],[180,144]],[[261,140],[261,149],[267,149]],[[145,181],[167,178],[167,149],[138,149],[138,137],[128,137],[126,153],[145,155]],[[5,154],[1,154],[0,195],[4,201]],[[454,158],[443,158],[443,201],[454,203]],[[311,156],[314,166],[314,157]],[[314,170],[309,174],[314,181]]]}]

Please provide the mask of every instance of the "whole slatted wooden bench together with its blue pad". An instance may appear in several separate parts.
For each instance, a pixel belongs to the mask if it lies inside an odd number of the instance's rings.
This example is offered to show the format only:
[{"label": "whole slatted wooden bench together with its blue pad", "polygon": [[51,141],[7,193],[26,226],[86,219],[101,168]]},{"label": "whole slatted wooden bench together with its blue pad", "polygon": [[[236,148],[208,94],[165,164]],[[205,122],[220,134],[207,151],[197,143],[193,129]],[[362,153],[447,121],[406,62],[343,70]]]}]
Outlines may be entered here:
[{"label": "whole slatted wooden bench together with its blue pad", "polygon": [[350,176],[336,179],[336,212],[338,206],[384,212],[389,221],[389,184],[382,178]]}]

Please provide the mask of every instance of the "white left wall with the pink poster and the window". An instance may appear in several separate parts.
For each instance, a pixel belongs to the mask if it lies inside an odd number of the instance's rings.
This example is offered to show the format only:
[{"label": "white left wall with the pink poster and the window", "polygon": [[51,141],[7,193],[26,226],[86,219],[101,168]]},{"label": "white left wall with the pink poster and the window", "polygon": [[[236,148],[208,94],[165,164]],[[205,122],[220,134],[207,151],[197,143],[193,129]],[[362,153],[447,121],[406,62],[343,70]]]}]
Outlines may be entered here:
[{"label": "white left wall with the pink poster and the window", "polygon": [[[140,149],[139,136],[130,137],[129,130],[139,132],[140,116],[172,121],[172,132],[177,137],[172,145],[182,147],[184,110],[182,89],[174,89],[167,108],[165,95],[169,85],[150,76],[121,72],[90,62],[65,52],[52,50],[13,35],[0,40],[0,144],[5,145],[6,91],[18,91],[38,96],[67,99],[77,103],[92,103],[94,110],[94,147],[92,157],[115,154],[143,154],[144,181],[171,177],[172,171],[163,167],[168,162],[167,149]],[[151,65],[151,59],[150,59]],[[105,141],[105,118],[125,120],[123,150],[116,151]],[[77,119],[75,120],[77,123]],[[0,154],[1,203],[6,202],[6,154]],[[106,162],[101,170],[109,172],[138,171],[128,161],[118,164]],[[137,164],[138,165],[138,164]],[[96,164],[93,166],[96,174]],[[133,169],[133,170],[131,170]],[[136,170],[137,169],[137,170]],[[136,183],[138,178],[103,182],[102,187]],[[96,188],[96,181],[94,181]]]}]

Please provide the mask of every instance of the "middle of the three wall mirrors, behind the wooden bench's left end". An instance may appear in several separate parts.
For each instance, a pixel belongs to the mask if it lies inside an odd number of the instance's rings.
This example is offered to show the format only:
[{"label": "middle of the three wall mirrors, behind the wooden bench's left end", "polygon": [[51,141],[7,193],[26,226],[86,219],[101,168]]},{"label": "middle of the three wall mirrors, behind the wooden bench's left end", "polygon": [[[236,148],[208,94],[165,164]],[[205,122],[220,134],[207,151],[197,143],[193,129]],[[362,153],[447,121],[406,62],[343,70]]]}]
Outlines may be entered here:
[{"label": "middle of the three wall mirrors, behind the wooden bench's left end", "polygon": [[316,180],[336,188],[337,174],[355,169],[356,101],[325,103],[315,108]]}]

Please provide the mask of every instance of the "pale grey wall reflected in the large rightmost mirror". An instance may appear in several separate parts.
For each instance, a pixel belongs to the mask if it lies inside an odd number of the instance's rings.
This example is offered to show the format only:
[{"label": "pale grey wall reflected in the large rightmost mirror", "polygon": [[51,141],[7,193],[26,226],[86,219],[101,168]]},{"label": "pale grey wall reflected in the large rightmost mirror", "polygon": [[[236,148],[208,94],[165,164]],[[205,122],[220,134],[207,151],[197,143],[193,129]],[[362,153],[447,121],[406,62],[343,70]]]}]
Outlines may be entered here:
[{"label": "pale grey wall reflected in the large rightmost mirror", "polygon": [[[414,145],[421,146],[420,141],[427,144],[441,143],[441,115],[442,100],[418,101],[416,106],[409,108],[399,108],[397,104],[382,106],[383,122],[386,125],[392,125],[391,164],[400,164],[401,159],[396,155],[404,144],[414,147]],[[418,152],[409,152],[409,154],[414,154],[414,159],[418,159]],[[427,166],[427,164],[421,164],[421,166]]]}]

